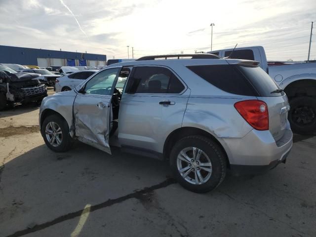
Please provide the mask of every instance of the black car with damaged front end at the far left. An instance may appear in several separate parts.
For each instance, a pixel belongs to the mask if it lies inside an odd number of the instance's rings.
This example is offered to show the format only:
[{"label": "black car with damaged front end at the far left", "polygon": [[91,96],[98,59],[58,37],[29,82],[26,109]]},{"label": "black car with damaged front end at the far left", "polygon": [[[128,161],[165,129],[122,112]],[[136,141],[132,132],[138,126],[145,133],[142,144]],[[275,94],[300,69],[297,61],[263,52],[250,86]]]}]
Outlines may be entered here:
[{"label": "black car with damaged front end at the far left", "polygon": [[47,89],[37,75],[9,74],[0,70],[0,111],[14,103],[40,103],[47,96]]}]

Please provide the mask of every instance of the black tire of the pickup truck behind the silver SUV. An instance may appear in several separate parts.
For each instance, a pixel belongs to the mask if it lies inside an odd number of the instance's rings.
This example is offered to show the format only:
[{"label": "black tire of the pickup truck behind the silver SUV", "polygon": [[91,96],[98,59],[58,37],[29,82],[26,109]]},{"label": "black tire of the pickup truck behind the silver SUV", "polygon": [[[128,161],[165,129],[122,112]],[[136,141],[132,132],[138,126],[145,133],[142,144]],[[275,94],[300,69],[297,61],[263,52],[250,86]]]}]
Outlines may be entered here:
[{"label": "black tire of the pickup truck behind the silver SUV", "polygon": [[299,96],[290,100],[288,120],[293,132],[313,134],[316,131],[316,99]]}]

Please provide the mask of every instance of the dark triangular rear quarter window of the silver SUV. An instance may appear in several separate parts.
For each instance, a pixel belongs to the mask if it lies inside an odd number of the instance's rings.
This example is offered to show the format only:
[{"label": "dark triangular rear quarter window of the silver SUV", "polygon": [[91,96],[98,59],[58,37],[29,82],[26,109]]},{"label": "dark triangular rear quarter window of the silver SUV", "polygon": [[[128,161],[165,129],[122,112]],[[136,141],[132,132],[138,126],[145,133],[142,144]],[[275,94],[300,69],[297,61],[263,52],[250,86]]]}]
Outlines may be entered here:
[{"label": "dark triangular rear quarter window of the silver SUV", "polygon": [[256,96],[251,84],[233,65],[203,65],[188,66],[188,68],[221,90],[237,95]]}]

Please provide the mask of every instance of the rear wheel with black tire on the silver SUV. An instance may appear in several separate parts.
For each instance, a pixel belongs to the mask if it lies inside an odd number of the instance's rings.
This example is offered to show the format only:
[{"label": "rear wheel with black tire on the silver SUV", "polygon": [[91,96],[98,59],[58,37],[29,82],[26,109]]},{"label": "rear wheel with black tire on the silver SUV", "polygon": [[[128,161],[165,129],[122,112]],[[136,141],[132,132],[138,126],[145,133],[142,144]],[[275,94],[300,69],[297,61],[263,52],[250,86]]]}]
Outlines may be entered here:
[{"label": "rear wheel with black tire on the silver SUV", "polygon": [[[204,168],[208,168],[206,165],[197,166],[198,161],[191,162],[190,164],[190,162],[178,158],[180,152],[184,152],[187,156],[193,158],[193,150],[191,151],[190,148],[197,148],[202,151],[199,153],[200,158],[198,165],[201,165],[202,163],[206,164],[207,160],[209,160],[211,162],[211,172],[204,170]],[[189,150],[186,151],[187,149]],[[179,140],[172,148],[170,153],[170,167],[174,177],[182,187],[195,193],[206,193],[215,189],[223,182],[226,176],[225,156],[226,155],[223,153],[221,147],[216,142],[204,136],[191,135]],[[183,156],[179,157],[184,158]],[[187,168],[187,170],[180,174],[179,169],[181,168]],[[192,170],[192,168],[194,168],[194,170]],[[189,171],[190,169],[191,171]],[[189,174],[184,178],[186,172],[189,172]],[[196,176],[197,172],[199,172],[205,182]]]}]

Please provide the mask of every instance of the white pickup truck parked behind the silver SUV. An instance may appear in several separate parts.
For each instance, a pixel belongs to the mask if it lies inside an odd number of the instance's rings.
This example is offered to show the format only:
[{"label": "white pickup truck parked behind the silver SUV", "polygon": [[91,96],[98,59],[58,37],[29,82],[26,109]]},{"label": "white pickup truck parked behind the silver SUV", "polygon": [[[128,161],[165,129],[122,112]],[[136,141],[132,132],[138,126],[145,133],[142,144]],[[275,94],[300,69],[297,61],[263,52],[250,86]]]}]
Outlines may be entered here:
[{"label": "white pickup truck parked behind the silver SUV", "polygon": [[[231,49],[208,53],[228,57]],[[262,46],[236,48],[230,58],[248,59],[260,62],[260,67],[283,89],[291,109],[288,114],[291,128],[300,134],[316,131],[316,63],[269,63]]]}]

